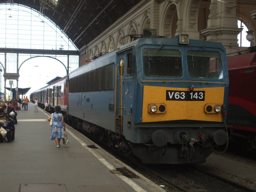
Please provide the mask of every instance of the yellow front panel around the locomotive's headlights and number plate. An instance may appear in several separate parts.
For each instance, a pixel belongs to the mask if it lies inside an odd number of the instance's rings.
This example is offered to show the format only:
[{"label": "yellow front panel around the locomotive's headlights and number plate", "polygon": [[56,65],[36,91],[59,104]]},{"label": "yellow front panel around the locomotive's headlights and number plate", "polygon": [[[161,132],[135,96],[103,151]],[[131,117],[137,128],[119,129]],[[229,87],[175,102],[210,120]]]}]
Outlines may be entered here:
[{"label": "yellow front panel around the locomotive's headlights and number plate", "polygon": [[[198,88],[194,91],[205,91],[204,101],[166,100],[166,90],[189,91],[188,88],[144,86],[142,122],[199,120],[222,122],[222,113],[207,114],[204,112],[206,104],[223,105],[224,87]],[[164,103],[165,113],[150,113],[149,104]]]}]

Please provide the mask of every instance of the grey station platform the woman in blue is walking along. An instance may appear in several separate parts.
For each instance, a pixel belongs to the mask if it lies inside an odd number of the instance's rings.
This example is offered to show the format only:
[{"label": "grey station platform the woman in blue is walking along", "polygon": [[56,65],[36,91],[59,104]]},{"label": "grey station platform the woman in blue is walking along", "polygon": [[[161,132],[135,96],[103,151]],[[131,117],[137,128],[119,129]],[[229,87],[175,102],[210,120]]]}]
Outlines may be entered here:
[{"label": "grey station platform the woman in blue is walking along", "polygon": [[[15,140],[0,143],[0,191],[158,192],[162,188],[66,125],[70,144],[50,140],[50,115],[34,104],[17,111]],[[98,148],[90,148],[88,146]],[[120,170],[128,172],[126,176]]]}]

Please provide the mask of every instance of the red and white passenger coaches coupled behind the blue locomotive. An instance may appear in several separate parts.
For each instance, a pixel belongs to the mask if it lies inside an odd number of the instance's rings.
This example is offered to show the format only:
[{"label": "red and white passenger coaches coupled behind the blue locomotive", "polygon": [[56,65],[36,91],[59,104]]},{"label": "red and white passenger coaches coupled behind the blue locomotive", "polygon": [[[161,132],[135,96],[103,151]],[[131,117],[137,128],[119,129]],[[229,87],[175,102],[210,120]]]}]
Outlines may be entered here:
[{"label": "red and white passenger coaches coupled behind the blue locomotive", "polygon": [[49,85],[30,94],[30,100],[34,102],[37,98],[38,105],[44,107],[46,100],[48,105],[53,109],[59,105],[63,115],[67,113],[67,77],[54,78]]}]

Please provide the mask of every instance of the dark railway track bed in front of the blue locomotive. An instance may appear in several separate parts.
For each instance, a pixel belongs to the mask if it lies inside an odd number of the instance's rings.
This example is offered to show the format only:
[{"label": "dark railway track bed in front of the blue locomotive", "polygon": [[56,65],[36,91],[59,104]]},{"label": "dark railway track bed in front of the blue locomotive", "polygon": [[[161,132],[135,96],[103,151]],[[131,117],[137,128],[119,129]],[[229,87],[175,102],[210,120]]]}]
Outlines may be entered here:
[{"label": "dark railway track bed in front of the blue locomotive", "polygon": [[[175,167],[175,165],[143,165],[138,162],[132,162],[132,164],[136,164],[144,172],[155,175],[158,177],[158,180],[159,178],[162,179],[167,186],[172,186],[175,192],[256,192],[255,189],[248,188],[245,185],[221,177],[195,165],[177,165]],[[164,172],[163,169],[165,169]],[[167,189],[166,191],[173,190]]]}]

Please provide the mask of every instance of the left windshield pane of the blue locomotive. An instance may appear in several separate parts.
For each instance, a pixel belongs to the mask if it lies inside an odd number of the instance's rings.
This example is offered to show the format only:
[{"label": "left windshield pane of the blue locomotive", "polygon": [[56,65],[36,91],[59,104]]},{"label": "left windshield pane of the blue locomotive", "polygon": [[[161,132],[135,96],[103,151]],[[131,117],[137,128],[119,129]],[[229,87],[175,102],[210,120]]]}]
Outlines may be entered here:
[{"label": "left windshield pane of the blue locomotive", "polygon": [[182,77],[181,52],[173,49],[143,49],[143,72],[147,77]]}]

